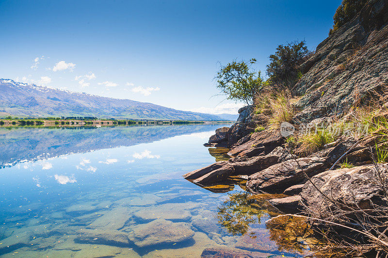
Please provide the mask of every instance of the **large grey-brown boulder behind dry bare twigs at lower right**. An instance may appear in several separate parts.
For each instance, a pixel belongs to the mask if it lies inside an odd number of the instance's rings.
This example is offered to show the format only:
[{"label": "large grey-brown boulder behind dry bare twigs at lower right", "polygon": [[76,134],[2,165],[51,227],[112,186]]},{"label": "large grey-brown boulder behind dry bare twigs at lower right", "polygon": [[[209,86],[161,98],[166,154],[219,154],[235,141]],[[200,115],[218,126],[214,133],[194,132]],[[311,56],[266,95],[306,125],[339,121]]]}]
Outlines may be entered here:
[{"label": "large grey-brown boulder behind dry bare twigs at lower right", "polygon": [[[379,164],[381,171],[388,169],[387,164]],[[381,188],[375,184],[377,179],[374,165],[329,170],[311,178],[320,191],[334,200],[361,209],[370,209],[371,203],[383,204]],[[300,194],[304,204],[313,211],[325,210],[332,206],[323,195],[307,181]],[[386,205],[386,204],[385,204]]]}]

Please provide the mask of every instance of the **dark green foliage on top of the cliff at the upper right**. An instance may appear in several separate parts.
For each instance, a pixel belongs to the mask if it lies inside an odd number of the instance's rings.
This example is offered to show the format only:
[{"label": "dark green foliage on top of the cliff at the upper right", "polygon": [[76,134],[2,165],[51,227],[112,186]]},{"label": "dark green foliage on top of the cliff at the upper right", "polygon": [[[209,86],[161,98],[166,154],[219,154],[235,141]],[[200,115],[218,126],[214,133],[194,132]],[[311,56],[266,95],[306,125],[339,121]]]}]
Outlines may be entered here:
[{"label": "dark green foliage on top of the cliff at the upper right", "polygon": [[368,0],[342,0],[341,5],[337,8],[334,14],[334,26],[330,29],[329,35],[333,34],[345,23],[351,21]]}]

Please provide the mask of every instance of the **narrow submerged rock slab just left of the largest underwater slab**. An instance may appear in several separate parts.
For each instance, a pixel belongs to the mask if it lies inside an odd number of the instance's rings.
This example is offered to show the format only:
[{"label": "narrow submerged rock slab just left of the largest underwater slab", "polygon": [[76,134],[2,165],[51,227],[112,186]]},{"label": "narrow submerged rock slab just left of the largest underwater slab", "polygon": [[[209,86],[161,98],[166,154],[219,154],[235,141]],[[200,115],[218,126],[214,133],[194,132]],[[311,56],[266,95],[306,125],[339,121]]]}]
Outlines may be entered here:
[{"label": "narrow submerged rock slab just left of the largest underwater slab", "polygon": [[128,246],[128,233],[117,230],[80,229],[77,230],[75,242],[90,244],[106,244],[113,246]]}]

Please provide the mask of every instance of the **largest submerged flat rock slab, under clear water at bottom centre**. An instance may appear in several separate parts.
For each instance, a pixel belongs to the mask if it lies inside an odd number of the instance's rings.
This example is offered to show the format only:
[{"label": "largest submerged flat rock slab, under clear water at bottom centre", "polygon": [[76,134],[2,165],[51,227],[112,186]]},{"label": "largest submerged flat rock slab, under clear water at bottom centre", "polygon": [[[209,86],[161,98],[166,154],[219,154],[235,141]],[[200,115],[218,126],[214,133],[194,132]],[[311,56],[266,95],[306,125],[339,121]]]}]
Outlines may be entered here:
[{"label": "largest submerged flat rock slab, under clear water at bottom centre", "polygon": [[138,247],[177,243],[191,239],[194,231],[184,222],[171,222],[157,219],[150,223],[133,226],[129,239]]}]

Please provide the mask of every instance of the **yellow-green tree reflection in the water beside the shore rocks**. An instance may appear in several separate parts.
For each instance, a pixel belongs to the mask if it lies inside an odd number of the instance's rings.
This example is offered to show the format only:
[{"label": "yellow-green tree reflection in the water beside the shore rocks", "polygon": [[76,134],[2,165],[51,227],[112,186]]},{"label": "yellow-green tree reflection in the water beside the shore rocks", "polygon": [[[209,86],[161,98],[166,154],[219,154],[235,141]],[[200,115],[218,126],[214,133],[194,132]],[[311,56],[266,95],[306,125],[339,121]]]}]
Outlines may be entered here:
[{"label": "yellow-green tree reflection in the water beside the shore rocks", "polygon": [[243,235],[251,224],[259,224],[267,212],[258,200],[248,192],[228,194],[226,201],[218,206],[217,219],[232,235]]}]

